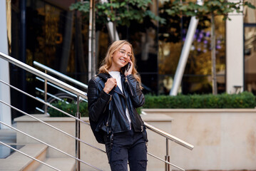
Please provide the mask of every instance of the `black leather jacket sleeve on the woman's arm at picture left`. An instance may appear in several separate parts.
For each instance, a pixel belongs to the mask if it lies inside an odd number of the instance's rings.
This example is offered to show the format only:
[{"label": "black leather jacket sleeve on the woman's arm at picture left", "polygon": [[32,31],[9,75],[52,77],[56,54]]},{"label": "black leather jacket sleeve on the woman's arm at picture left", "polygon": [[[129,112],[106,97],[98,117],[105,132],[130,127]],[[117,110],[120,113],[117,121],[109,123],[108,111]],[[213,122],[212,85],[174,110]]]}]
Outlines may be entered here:
[{"label": "black leather jacket sleeve on the woman's arm at picture left", "polygon": [[97,83],[94,79],[91,79],[88,83],[87,95],[89,117],[94,122],[97,122],[98,118],[104,113],[106,106],[111,99],[111,95],[103,90],[98,90]]}]

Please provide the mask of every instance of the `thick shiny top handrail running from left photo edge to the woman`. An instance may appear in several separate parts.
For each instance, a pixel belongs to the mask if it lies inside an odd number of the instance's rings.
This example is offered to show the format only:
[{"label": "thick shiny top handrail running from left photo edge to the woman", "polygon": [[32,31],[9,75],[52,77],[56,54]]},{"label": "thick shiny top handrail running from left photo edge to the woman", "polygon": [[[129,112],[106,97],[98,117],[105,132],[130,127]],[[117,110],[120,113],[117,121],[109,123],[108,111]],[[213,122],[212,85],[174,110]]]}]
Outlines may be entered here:
[{"label": "thick shiny top handrail running from left photo edge to the woman", "polygon": [[87,99],[86,93],[84,91],[79,90],[78,88],[74,88],[73,86],[70,86],[63,81],[59,81],[57,78],[49,76],[48,74],[43,73],[42,71],[39,71],[36,68],[33,68],[26,63],[17,60],[16,58],[12,58],[11,56],[8,56],[2,52],[0,52],[0,58],[3,58],[4,60],[9,61],[9,63],[13,63],[14,65],[19,66],[20,68],[23,68],[30,73],[34,73],[36,76],[39,76],[47,81],[50,81],[51,83],[56,84],[57,86],[60,86],[61,88],[65,88],[66,90],[76,93],[76,95],[80,95],[82,98]]}]

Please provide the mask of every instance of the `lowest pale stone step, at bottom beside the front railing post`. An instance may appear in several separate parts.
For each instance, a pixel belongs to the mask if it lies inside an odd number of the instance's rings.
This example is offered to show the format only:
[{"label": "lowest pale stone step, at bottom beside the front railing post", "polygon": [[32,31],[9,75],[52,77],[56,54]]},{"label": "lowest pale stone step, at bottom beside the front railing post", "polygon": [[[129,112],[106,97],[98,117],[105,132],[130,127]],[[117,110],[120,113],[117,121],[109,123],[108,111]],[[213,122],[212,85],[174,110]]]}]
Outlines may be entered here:
[{"label": "lowest pale stone step, at bottom beside the front railing post", "polygon": [[[76,160],[73,158],[46,158],[43,162],[46,162],[46,164],[51,165],[52,167],[55,167],[58,170],[63,171],[71,171],[74,170]],[[52,171],[53,169],[51,167],[48,167],[46,165],[41,164],[36,171]]]}]

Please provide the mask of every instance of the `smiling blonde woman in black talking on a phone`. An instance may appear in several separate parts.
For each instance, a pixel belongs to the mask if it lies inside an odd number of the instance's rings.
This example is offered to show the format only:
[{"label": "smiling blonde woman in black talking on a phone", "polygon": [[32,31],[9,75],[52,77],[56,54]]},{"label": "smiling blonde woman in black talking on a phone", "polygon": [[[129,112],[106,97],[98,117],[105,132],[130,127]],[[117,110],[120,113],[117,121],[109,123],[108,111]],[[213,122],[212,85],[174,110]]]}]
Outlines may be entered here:
[{"label": "smiling blonde woman in black talking on a phone", "polygon": [[104,143],[112,171],[143,171],[147,167],[147,135],[135,108],[144,104],[133,47],[115,41],[108,48],[99,74],[88,83],[88,110]]}]

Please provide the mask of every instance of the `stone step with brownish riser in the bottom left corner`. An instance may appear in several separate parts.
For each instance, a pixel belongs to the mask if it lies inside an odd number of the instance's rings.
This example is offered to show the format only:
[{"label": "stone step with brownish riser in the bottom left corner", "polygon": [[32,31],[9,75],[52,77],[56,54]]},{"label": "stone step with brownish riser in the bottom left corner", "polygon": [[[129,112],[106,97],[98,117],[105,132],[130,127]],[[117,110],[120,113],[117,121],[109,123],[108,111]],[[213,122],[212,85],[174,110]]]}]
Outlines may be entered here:
[{"label": "stone step with brownish riser in the bottom left corner", "polygon": [[[19,149],[21,152],[36,158],[37,160],[46,159],[47,146],[42,144],[27,144]],[[40,162],[26,157],[20,152],[14,152],[9,157],[0,159],[0,170],[36,170]]]}]

